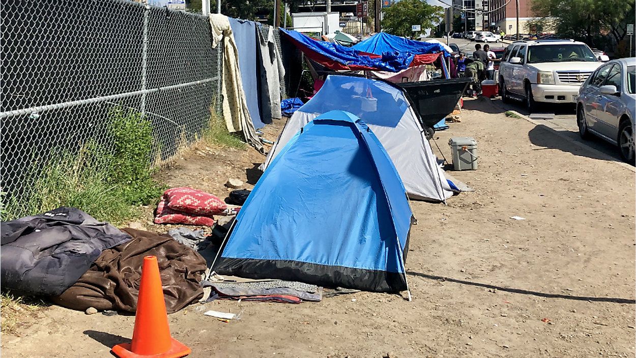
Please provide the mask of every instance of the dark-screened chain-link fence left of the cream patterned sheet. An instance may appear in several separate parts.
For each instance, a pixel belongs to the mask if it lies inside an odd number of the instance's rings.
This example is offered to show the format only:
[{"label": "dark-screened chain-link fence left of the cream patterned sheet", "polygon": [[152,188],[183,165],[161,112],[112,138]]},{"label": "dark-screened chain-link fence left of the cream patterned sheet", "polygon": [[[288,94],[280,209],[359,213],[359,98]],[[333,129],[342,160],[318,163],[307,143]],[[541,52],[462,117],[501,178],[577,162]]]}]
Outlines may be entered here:
[{"label": "dark-screened chain-link fence left of the cream patterned sheet", "polygon": [[5,0],[3,192],[20,195],[58,150],[109,148],[121,106],[153,125],[151,161],[194,141],[218,108],[223,59],[207,17],[125,0]]}]

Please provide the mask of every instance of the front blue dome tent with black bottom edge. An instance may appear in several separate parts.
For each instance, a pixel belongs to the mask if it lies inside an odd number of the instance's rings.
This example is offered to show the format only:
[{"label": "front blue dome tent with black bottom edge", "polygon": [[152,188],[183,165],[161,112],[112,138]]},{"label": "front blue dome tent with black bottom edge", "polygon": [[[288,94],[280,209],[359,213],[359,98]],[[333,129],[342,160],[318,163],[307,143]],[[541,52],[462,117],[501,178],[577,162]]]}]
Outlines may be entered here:
[{"label": "front blue dome tent with black bottom edge", "polygon": [[405,290],[411,215],[403,183],[375,134],[351,113],[330,111],[305,125],[267,167],[213,269]]}]

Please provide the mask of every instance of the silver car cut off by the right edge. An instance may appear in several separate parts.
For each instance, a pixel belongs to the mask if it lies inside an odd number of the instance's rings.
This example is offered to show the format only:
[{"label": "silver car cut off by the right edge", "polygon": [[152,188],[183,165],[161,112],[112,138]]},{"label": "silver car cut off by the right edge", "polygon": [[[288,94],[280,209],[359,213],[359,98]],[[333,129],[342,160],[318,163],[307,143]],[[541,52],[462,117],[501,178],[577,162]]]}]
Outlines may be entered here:
[{"label": "silver car cut off by the right edge", "polygon": [[609,141],[633,164],[635,107],[636,57],[600,66],[579,89],[576,122],[581,138],[594,134]]}]

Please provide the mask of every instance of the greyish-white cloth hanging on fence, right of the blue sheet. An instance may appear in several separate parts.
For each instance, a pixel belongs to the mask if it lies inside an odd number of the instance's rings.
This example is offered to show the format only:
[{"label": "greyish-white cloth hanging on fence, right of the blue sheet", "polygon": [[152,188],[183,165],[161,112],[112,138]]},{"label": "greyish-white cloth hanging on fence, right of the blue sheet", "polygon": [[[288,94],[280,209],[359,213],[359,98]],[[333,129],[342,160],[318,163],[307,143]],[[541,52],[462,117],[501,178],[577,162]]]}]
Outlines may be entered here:
[{"label": "greyish-white cloth hanging on fence, right of the blue sheet", "polygon": [[[285,75],[282,68],[280,54],[274,41],[275,29],[269,25],[267,37],[263,32],[256,31],[259,41],[259,55],[261,57],[261,118],[281,118],[280,113],[280,79]],[[282,71],[282,75],[281,75]]]}]

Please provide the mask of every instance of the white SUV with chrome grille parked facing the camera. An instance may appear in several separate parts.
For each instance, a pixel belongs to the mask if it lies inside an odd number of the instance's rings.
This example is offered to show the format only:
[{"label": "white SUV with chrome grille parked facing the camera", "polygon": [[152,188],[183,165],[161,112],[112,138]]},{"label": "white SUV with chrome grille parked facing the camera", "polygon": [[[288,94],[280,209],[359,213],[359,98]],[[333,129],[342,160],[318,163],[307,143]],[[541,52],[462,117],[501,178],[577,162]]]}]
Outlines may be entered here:
[{"label": "white SUV with chrome grille parked facing the camera", "polygon": [[515,41],[499,65],[501,99],[525,100],[529,111],[535,110],[537,102],[576,103],[581,83],[601,64],[582,42]]}]

